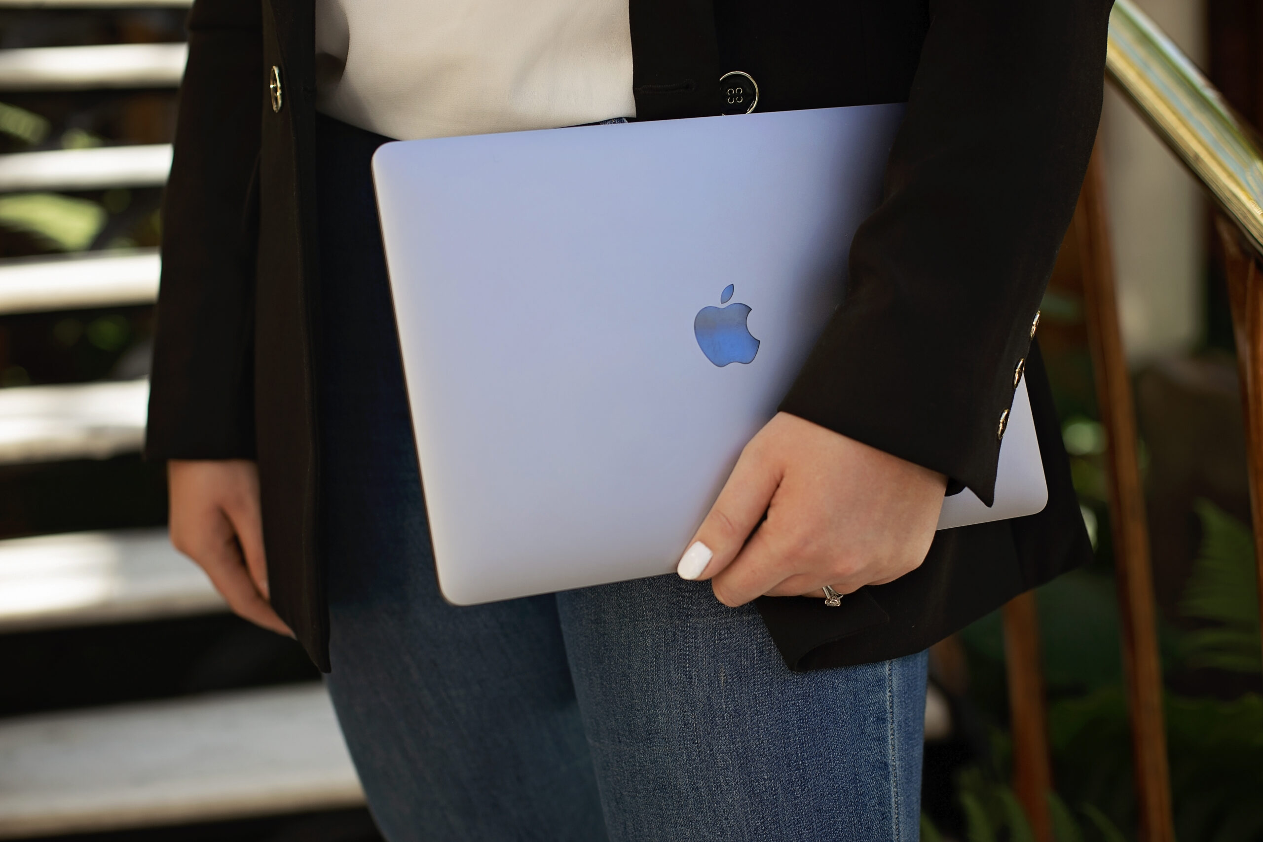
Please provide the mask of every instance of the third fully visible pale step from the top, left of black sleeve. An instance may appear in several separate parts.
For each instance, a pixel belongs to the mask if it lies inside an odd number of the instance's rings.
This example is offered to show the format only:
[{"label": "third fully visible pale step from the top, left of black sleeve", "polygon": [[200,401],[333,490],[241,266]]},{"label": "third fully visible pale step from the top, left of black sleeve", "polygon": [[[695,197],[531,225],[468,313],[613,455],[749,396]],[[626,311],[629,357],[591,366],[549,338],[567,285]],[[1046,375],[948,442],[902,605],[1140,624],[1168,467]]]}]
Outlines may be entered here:
[{"label": "third fully visible pale step from the top, left of black sleeve", "polygon": [[0,316],[158,300],[157,249],[0,260]]}]

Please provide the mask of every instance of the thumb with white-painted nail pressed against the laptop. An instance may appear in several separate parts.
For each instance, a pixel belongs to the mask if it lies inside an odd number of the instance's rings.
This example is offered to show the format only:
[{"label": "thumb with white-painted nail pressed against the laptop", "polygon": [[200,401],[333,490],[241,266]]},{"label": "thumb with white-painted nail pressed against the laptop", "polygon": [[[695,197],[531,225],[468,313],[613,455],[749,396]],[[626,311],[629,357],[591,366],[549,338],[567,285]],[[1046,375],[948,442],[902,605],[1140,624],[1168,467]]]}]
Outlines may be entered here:
[{"label": "thumb with white-painted nail pressed against the laptop", "polygon": [[750,533],[768,510],[781,476],[764,457],[757,436],[741,451],[702,525],[690,542],[676,571],[685,579],[710,578],[736,558]]}]

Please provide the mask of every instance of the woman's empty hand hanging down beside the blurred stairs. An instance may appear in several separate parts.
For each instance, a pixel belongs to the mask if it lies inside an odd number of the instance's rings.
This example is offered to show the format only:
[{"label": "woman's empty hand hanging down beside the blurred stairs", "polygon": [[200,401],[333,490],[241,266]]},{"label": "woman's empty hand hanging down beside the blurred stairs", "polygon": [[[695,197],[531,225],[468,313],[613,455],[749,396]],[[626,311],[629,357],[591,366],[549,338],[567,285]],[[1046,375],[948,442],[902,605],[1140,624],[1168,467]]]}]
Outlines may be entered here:
[{"label": "woman's empty hand hanging down beside the blurred stairs", "polygon": [[171,543],[206,571],[237,615],[293,637],[268,603],[259,468],[246,460],[172,460]]}]

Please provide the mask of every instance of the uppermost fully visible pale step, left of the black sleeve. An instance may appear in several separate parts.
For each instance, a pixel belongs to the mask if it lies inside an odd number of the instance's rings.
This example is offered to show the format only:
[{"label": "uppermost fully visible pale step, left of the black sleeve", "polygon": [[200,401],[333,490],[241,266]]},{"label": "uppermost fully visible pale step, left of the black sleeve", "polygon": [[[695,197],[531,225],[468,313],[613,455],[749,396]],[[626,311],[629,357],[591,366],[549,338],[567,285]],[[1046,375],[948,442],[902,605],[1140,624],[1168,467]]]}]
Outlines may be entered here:
[{"label": "uppermost fully visible pale step, left of the black sleeve", "polygon": [[0,49],[0,91],[178,87],[187,44]]}]

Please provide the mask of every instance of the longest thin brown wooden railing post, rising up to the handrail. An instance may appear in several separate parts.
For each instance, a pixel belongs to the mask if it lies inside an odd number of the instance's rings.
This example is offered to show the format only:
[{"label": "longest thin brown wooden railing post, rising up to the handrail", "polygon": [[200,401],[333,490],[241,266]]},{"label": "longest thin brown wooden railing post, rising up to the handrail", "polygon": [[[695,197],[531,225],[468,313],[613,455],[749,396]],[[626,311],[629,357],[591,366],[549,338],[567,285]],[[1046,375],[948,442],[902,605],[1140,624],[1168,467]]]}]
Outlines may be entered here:
[{"label": "longest thin brown wooden railing post, rising up to the handrail", "polygon": [[1135,410],[1119,335],[1100,155],[1098,140],[1075,212],[1075,236],[1082,263],[1084,304],[1096,398],[1109,446],[1109,510],[1123,636],[1123,669],[1132,720],[1132,762],[1139,813],[1137,836],[1142,842],[1175,842],[1153,571],[1149,566],[1149,537],[1137,458]]}]

